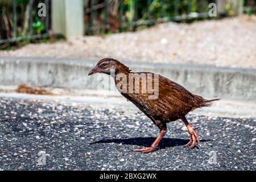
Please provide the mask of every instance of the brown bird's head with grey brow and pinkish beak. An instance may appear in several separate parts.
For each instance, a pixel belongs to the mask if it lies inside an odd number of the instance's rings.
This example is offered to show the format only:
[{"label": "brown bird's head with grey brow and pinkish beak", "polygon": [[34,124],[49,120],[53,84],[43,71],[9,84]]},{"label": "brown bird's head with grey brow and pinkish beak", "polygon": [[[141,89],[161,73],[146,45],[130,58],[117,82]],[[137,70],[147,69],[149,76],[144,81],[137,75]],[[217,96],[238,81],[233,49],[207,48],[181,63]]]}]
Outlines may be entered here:
[{"label": "brown bird's head with grey brow and pinkish beak", "polygon": [[94,67],[88,75],[93,75],[94,73],[105,73],[110,75],[110,73],[118,72],[129,72],[129,68],[126,65],[120,63],[118,60],[112,58],[104,58],[98,61],[96,67]]}]

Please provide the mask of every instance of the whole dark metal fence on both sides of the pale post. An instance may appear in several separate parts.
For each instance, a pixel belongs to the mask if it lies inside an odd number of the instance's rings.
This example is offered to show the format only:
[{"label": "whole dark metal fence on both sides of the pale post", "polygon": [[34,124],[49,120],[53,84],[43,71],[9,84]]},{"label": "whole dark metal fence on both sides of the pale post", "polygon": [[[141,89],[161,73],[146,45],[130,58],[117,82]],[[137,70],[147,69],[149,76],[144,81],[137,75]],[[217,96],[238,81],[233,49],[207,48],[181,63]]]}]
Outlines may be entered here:
[{"label": "whole dark metal fence on both sides of the pale post", "polygon": [[[106,32],[122,32],[137,30],[141,26],[151,26],[156,23],[168,21],[186,21],[191,19],[208,18],[209,3],[217,0],[84,0],[84,24],[85,35],[100,34]],[[243,0],[241,0],[243,1]],[[0,16],[0,44],[17,42],[19,40],[31,40],[47,37],[51,17],[50,0],[27,0],[28,4],[28,31],[20,34],[20,24],[17,19],[17,3],[12,0],[11,20],[9,20],[9,36],[2,36],[6,27],[6,19]],[[38,17],[38,2],[46,4],[46,16]],[[243,12],[255,13],[256,0],[244,0]],[[35,17],[42,19],[44,30],[35,32],[33,24]],[[3,23],[4,22],[4,23]],[[5,26],[2,26],[5,24]]]}]

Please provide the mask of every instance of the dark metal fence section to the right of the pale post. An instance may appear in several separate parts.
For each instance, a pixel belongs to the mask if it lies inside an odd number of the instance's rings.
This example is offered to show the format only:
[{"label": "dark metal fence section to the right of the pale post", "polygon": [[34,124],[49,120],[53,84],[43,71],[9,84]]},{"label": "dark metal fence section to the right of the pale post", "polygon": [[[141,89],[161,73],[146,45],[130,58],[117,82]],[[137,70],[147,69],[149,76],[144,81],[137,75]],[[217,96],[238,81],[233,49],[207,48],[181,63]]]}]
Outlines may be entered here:
[{"label": "dark metal fence section to the right of the pale post", "polygon": [[[128,1],[128,0],[127,0]],[[99,2],[97,0],[89,0],[85,2],[85,32],[86,34],[97,34],[98,32],[120,32],[123,30],[136,30],[139,26],[151,26],[155,23],[162,23],[168,21],[181,21],[189,19],[200,19],[209,17],[209,3],[216,3],[216,0],[133,0],[130,6],[130,13],[132,17],[127,18],[125,10],[127,10],[127,1],[115,1],[117,3],[117,10],[115,10],[114,17],[109,11],[109,1]],[[142,6],[138,12],[138,5]],[[158,7],[152,10],[151,7]],[[167,6],[168,3],[168,6]],[[194,10],[192,9],[192,3]],[[127,3],[126,3],[127,4]],[[115,6],[115,5],[112,5]],[[195,8],[196,7],[196,8]],[[157,15],[156,15],[157,14]],[[103,16],[102,16],[103,15]]]}]

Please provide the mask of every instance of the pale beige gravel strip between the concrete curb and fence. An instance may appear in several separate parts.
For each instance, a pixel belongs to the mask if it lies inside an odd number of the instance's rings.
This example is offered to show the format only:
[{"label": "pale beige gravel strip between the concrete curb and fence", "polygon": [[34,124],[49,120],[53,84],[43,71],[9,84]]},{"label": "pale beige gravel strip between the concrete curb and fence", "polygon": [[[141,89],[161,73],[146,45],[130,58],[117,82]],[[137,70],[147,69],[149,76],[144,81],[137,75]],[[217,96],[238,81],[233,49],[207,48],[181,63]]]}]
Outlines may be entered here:
[{"label": "pale beige gravel strip between the concrete curb and fence", "polygon": [[217,67],[256,68],[256,16],[164,23],[137,32],[85,36],[67,42],[28,44],[0,56],[78,57]]}]

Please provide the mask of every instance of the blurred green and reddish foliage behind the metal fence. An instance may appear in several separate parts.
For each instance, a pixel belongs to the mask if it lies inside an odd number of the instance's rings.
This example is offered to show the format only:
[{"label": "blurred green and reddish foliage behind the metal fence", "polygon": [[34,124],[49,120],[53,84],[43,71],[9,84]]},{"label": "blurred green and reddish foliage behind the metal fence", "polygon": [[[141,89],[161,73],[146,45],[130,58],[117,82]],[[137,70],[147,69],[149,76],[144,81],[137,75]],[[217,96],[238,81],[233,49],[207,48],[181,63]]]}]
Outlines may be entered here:
[{"label": "blurred green and reddish foliage behind the metal fence", "polygon": [[[243,0],[241,0],[243,1]],[[32,10],[28,0],[16,0],[16,37],[41,35],[46,32],[46,18],[39,17],[40,0],[32,0]],[[51,1],[49,1],[51,6]],[[175,16],[207,12],[210,0],[85,0],[84,1],[84,34],[110,34],[121,31],[134,31],[152,26],[158,22],[178,21],[192,22],[205,18],[174,19]],[[255,0],[244,1],[245,13],[255,13]],[[232,5],[225,6],[226,15],[232,16]],[[0,0],[0,40],[14,37],[13,1]],[[51,7],[49,7],[51,14]],[[50,16],[50,15],[49,15]],[[32,22],[30,24],[30,17]],[[51,29],[51,19],[49,28]],[[41,39],[42,40],[42,39]],[[46,37],[43,37],[46,40]],[[35,40],[24,39],[26,42]],[[15,44],[5,44],[8,45]],[[1,47],[0,47],[1,48]]]}]

